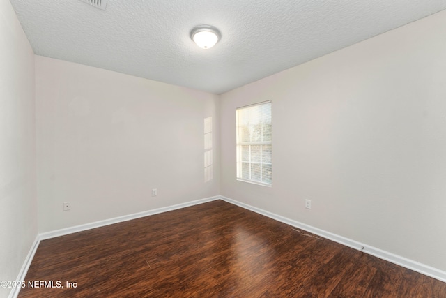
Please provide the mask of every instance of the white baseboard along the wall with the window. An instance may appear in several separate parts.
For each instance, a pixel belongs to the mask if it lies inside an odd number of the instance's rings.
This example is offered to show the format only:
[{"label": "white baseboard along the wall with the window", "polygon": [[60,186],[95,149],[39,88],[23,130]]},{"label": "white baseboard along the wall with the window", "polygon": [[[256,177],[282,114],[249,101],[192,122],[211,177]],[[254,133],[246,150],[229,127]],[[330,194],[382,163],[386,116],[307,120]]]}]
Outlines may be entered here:
[{"label": "white baseboard along the wall with the window", "polygon": [[[229,202],[231,204],[235,204],[238,207],[242,207],[244,209],[248,209],[250,211],[254,211],[258,214],[261,214],[263,216],[267,216],[269,218],[275,219],[276,221],[280,221],[282,223],[286,223],[287,225],[292,225],[295,228],[299,228],[302,230],[305,230],[307,232],[311,232],[313,234],[316,234],[318,236],[321,236],[325,239],[330,239],[332,241],[335,241],[339,244],[355,248],[358,251],[363,251],[364,253],[368,253],[369,255],[374,255],[377,258],[386,260],[388,262],[392,262],[396,265],[399,265],[401,267],[405,267],[407,269],[417,271],[421,274],[424,274],[426,276],[430,276],[432,278],[438,279],[438,281],[443,281],[446,283],[446,271],[436,269],[434,267],[431,267],[429,265],[424,265],[420,262],[416,262],[414,260],[409,260],[408,258],[401,257],[400,255],[395,255],[394,253],[389,253],[387,251],[383,251],[380,248],[376,248],[373,246],[369,246],[367,244],[362,244],[358,241],[348,239],[346,237],[339,236],[337,234],[333,234],[331,232],[327,232],[325,230],[321,230],[318,228],[314,228],[311,225],[306,225],[305,223],[300,223],[298,221],[294,221],[290,218],[286,218],[284,216],[279,216],[277,214],[273,214],[269,211],[265,211],[263,209],[259,209],[257,207],[253,207],[251,205],[238,202],[236,200],[232,200],[230,198],[226,198],[224,196],[220,196],[221,200],[224,200],[225,202]],[[364,249],[362,249],[364,247]]]}]

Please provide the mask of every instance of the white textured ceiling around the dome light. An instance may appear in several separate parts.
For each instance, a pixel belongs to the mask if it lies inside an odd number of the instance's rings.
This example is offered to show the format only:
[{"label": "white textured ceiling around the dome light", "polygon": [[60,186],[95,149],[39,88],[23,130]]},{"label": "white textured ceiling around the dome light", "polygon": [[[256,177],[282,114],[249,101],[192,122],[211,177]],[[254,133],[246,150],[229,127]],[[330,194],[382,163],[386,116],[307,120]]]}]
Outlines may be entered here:
[{"label": "white textured ceiling around the dome light", "polygon": [[[446,9],[446,0],[10,0],[36,54],[221,94]],[[222,39],[202,50],[199,24]]]}]

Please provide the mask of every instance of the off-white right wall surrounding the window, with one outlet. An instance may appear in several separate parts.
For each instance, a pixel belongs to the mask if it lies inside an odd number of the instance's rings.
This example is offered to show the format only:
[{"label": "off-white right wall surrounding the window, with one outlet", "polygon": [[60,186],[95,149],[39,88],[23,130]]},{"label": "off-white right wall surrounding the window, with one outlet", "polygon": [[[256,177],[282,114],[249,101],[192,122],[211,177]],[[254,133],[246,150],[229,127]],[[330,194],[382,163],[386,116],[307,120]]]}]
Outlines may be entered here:
[{"label": "off-white right wall surrounding the window, with one outlet", "polygon": [[[223,94],[222,195],[446,270],[445,28],[443,11]],[[264,100],[272,188],[236,181],[235,109]]]}]

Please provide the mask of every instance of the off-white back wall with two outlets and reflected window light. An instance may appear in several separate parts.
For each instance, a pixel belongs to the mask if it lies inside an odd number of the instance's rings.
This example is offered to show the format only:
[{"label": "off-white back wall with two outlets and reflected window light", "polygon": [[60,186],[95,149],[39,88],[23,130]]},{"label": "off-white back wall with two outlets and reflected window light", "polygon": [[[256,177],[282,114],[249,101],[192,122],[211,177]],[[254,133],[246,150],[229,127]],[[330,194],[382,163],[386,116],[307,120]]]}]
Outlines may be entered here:
[{"label": "off-white back wall with two outlets and reflected window light", "polygon": [[206,117],[218,161],[218,105],[206,92],[36,56],[39,232],[219,195],[218,163],[207,183],[203,168]]}]

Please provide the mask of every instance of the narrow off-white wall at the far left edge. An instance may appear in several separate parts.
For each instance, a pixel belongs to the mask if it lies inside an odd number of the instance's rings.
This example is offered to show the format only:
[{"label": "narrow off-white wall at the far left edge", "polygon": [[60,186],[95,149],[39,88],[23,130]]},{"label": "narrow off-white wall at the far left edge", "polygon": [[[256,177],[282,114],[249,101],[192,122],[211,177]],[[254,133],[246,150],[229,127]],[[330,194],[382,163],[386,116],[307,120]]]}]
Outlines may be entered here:
[{"label": "narrow off-white wall at the far left edge", "polygon": [[0,281],[15,281],[37,236],[34,105],[34,54],[0,0]]}]

